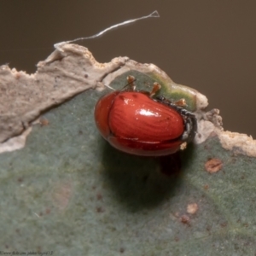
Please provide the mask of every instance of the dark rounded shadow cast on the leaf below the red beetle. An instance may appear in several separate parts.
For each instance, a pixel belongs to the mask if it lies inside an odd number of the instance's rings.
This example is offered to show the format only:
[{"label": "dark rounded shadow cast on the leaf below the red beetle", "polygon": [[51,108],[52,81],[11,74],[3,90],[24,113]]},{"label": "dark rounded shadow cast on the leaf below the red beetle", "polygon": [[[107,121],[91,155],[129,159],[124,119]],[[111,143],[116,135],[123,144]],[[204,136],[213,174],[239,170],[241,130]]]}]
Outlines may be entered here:
[{"label": "dark rounded shadow cast on the leaf below the red beetle", "polygon": [[122,153],[104,141],[102,165],[113,196],[132,212],[159,206],[177,195],[183,183],[179,152],[164,157],[140,157]]}]

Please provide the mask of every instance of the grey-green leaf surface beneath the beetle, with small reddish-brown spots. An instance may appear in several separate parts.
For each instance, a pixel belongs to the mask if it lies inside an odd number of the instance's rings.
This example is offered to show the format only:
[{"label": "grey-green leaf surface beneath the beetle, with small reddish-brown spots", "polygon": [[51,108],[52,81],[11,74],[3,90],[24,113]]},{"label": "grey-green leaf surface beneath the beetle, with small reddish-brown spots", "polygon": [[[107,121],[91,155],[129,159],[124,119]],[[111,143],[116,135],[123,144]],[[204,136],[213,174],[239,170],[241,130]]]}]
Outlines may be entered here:
[{"label": "grey-green leaf surface beneath the beetle, with small reddish-brown spots", "polygon": [[[181,171],[166,175],[159,159],[123,154],[100,137],[100,95],[87,90],[50,110],[25,148],[0,154],[1,251],[253,255],[256,160],[212,137],[185,149]],[[223,168],[211,174],[212,158]]]}]

